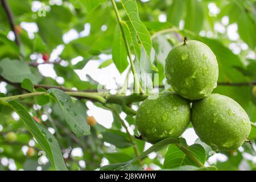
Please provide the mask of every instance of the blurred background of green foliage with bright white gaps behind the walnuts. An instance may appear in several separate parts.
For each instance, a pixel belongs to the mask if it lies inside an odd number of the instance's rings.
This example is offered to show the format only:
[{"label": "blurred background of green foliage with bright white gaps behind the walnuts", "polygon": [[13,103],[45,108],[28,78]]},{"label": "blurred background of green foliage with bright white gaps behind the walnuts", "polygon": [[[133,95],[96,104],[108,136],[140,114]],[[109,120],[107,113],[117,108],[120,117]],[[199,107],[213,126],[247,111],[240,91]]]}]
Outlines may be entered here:
[{"label": "blurred background of green foliage with bright white gaps behind the walnuts", "polygon": [[[4,59],[29,63],[34,84],[64,86],[73,90],[93,92],[104,85],[110,93],[117,93],[128,79],[129,63],[124,66],[113,61],[113,39],[117,20],[110,1],[97,0],[7,0],[13,13],[16,34],[10,28],[10,19],[0,6],[0,63]],[[154,64],[159,70],[162,90],[169,88],[164,78],[164,62],[168,52],[184,36],[207,44],[217,57],[219,65],[218,87],[221,93],[236,100],[246,110],[251,121],[256,121],[256,1],[254,0],[154,0],[136,1],[139,17],[150,32],[155,50]],[[123,20],[127,16],[116,1]],[[2,5],[2,4],[1,4]],[[141,61],[140,64],[142,64]],[[5,69],[3,65],[1,69]],[[154,73],[148,64],[139,65],[141,72]],[[128,77],[126,79],[126,77]],[[20,94],[14,84],[0,82],[0,92],[8,96]],[[129,92],[127,92],[129,94]],[[20,101],[36,121],[43,123],[55,135],[71,170],[95,170],[106,164],[125,162],[134,158],[131,145],[123,144],[125,129],[111,111],[92,101],[81,101],[85,122],[93,116],[92,135],[76,138],[67,129],[57,104],[44,106],[33,100]],[[133,105],[138,109],[138,103]],[[131,134],[137,134],[134,118],[118,110]],[[88,119],[87,119],[88,120]],[[113,130],[121,134],[113,135]],[[15,133],[15,140],[6,135]],[[117,136],[121,140],[115,140]],[[182,135],[187,143],[198,138],[192,127]],[[216,164],[222,170],[256,169],[256,130],[250,140],[237,151],[211,154],[205,166]],[[137,141],[142,152],[151,146]],[[134,163],[129,169],[160,169],[166,148],[152,152],[143,160],[143,166]],[[49,160],[43,155],[35,139],[28,133],[13,110],[3,109],[0,114],[0,170],[50,170]]]}]

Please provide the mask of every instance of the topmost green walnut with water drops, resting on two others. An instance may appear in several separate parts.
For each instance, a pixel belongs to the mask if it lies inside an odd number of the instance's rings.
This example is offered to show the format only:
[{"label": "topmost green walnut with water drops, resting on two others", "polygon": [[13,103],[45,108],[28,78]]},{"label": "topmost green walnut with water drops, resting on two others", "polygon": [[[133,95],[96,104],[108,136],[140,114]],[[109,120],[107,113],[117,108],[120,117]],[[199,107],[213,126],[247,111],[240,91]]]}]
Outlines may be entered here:
[{"label": "topmost green walnut with water drops, resting on two others", "polygon": [[189,40],[171,49],[166,59],[168,84],[188,100],[208,96],[217,86],[218,63],[212,50],[202,42]]}]

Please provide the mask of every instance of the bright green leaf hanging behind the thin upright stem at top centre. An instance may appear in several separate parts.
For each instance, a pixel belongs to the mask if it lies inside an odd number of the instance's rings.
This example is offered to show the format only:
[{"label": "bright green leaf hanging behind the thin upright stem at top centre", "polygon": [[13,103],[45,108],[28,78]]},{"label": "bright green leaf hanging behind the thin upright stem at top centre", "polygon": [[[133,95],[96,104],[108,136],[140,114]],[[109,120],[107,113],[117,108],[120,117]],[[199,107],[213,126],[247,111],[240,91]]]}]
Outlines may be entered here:
[{"label": "bright green leaf hanging behind the thin upright stem at top centre", "polygon": [[[126,40],[127,43],[130,45],[131,38],[129,34],[128,27],[125,23],[122,24],[123,29],[126,33]],[[118,71],[122,73],[125,71],[127,66],[129,65],[127,61],[127,51],[125,42],[123,41],[122,32],[120,30],[119,24],[115,27],[114,32],[114,40],[113,40],[113,46],[112,46],[112,56],[115,66],[117,67]]]}]

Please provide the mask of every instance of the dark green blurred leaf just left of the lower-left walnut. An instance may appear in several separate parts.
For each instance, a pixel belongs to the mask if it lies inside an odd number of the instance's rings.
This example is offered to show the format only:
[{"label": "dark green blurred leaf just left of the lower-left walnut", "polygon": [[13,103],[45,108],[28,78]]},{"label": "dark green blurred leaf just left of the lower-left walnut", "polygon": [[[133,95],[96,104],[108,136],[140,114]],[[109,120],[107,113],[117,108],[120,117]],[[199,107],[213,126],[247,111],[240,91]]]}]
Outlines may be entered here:
[{"label": "dark green blurred leaf just left of the lower-left walnut", "polygon": [[126,148],[133,145],[127,137],[127,134],[118,130],[107,130],[102,133],[102,136],[104,142],[111,143],[119,148]]}]

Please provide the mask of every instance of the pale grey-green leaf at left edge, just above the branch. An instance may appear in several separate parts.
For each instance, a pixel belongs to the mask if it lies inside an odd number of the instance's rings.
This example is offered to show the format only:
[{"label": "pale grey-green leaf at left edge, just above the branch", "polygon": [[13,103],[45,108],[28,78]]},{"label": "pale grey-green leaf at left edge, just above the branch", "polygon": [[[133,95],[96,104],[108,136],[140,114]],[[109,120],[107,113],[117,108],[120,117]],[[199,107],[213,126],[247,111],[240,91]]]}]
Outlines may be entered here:
[{"label": "pale grey-green leaf at left edge, just above the branch", "polygon": [[34,84],[37,84],[42,77],[33,75],[27,63],[19,60],[3,59],[0,61],[1,76],[6,80],[20,83],[25,78],[30,79]]}]

